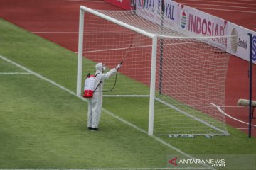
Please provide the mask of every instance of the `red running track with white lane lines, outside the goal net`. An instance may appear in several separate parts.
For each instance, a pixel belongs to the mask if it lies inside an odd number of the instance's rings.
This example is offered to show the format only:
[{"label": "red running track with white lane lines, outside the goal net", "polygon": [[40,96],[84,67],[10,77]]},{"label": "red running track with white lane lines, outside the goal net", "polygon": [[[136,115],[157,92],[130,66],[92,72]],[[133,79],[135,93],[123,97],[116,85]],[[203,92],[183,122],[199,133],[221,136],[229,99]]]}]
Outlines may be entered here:
[{"label": "red running track with white lane lines, outside the goal net", "polygon": [[[220,0],[202,0],[203,3],[196,0],[177,1],[256,30],[256,2],[233,0],[228,4]],[[105,10],[120,10],[102,0],[1,0],[0,17],[68,50],[77,52],[80,5]],[[248,62],[238,57],[230,57],[225,106],[236,106],[239,98],[248,98],[247,69]],[[256,68],[254,69],[256,70]],[[256,77],[256,72],[254,77]],[[254,84],[256,84],[255,82],[256,79]],[[253,88],[256,89],[256,85]],[[253,97],[256,98],[256,91]],[[247,108],[226,108],[225,111],[234,118],[247,122],[247,110]],[[247,132],[247,125],[243,123],[230,118],[227,118],[227,123]],[[252,123],[256,125],[256,119],[252,120]],[[252,135],[256,136],[256,129],[252,129]]]}]

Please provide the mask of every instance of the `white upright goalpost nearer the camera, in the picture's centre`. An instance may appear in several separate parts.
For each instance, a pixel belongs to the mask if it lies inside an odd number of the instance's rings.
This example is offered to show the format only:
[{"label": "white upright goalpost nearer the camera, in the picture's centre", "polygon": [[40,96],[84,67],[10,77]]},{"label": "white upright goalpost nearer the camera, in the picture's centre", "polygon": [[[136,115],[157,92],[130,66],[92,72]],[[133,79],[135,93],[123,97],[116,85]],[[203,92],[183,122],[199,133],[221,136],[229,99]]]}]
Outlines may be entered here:
[{"label": "white upright goalpost nearer the camera, in the picture's centre", "polygon": [[150,99],[149,99],[149,135],[154,131],[154,101],[156,86],[156,52],[157,37],[152,38],[152,56],[151,56],[151,82],[150,82]]}]

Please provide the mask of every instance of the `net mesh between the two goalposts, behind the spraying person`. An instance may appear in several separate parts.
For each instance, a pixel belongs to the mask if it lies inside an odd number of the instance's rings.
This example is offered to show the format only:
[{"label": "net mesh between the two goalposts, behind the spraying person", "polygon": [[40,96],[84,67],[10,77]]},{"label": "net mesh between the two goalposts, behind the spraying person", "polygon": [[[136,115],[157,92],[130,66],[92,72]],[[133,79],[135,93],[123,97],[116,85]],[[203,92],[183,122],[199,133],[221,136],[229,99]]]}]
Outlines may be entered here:
[{"label": "net mesh between the two goalposts, behind the spraying person", "polygon": [[[90,13],[85,13],[84,29],[83,55],[89,60],[83,73],[94,73],[97,62],[112,69],[123,61],[117,85],[107,95],[149,95],[151,38]],[[114,78],[105,81],[104,91],[111,89]]]}]

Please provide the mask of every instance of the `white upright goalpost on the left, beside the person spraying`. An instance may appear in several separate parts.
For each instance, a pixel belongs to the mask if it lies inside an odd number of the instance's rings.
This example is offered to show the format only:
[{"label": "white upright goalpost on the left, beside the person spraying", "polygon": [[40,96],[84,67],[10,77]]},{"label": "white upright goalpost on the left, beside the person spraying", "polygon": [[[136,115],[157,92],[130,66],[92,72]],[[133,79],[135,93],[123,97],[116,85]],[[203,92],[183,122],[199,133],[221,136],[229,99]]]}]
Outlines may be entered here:
[{"label": "white upright goalpost on the left, beside the person spraying", "polygon": [[77,77],[77,96],[81,96],[82,86],[82,46],[84,33],[85,11],[80,8],[79,18],[79,38],[78,38],[78,77]]}]

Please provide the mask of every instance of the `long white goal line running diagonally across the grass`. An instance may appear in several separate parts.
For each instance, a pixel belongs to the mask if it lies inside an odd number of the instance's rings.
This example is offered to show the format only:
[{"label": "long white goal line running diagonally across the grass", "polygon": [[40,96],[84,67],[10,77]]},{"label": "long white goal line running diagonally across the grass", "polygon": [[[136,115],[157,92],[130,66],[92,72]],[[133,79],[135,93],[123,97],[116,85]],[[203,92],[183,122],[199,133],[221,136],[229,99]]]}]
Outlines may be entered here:
[{"label": "long white goal line running diagonally across the grass", "polygon": [[[75,94],[75,92],[70,91],[69,89],[65,88],[64,86],[61,86],[60,84],[57,84],[57,83],[56,83],[55,81],[53,81],[53,80],[50,80],[50,79],[47,79],[46,77],[43,77],[41,74],[38,74],[38,73],[36,73],[36,72],[33,72],[31,69],[28,69],[28,68],[22,66],[21,64],[18,64],[18,63],[16,63],[16,62],[13,62],[13,61],[9,60],[8,58],[3,57],[3,56],[1,56],[1,55],[0,55],[0,58],[1,58],[2,60],[5,60],[6,62],[10,62],[11,64],[15,65],[16,67],[19,67],[19,68],[21,68],[21,69],[24,69],[26,72],[29,72],[29,73],[33,74],[34,76],[36,76],[36,77],[38,77],[38,78],[40,78],[40,79],[43,79],[43,80],[45,80],[45,81],[48,81],[50,84],[53,84],[54,86],[57,86],[58,88],[63,89],[64,91],[67,91],[69,94],[72,94],[73,96],[76,96],[76,97],[80,98],[82,101],[87,101],[87,100],[86,100],[85,98],[83,98],[82,96],[77,96],[77,95]],[[102,108],[102,111],[104,111],[104,112],[107,113],[108,115],[112,115],[113,118],[116,118],[117,120],[121,121],[122,123],[127,124],[127,125],[131,126],[132,128],[135,128],[135,129],[139,130],[140,132],[143,132],[144,134],[148,135],[148,133],[147,133],[145,130],[143,130],[142,128],[139,128],[139,127],[137,127],[137,125],[134,125],[134,124],[132,124],[132,123],[129,123],[127,120],[124,120],[123,118],[120,118],[120,117],[117,116],[117,115],[114,115],[114,113],[112,113],[112,112],[110,112],[110,111],[107,111],[107,109]],[[180,153],[180,154],[183,154],[184,156],[186,156],[186,157],[188,157],[188,158],[190,158],[190,159],[196,159],[196,158],[192,157],[190,154],[186,154],[185,152],[181,151],[181,149],[178,149],[177,147],[174,147],[174,146],[170,145],[169,143],[165,142],[164,140],[161,140],[161,138],[159,138],[159,137],[156,137],[156,136],[150,136],[150,137],[152,137],[154,140],[159,141],[162,145],[165,145],[166,147],[169,147],[169,148],[171,148],[171,149],[174,149],[176,152],[178,152],[178,153]],[[203,165],[203,166],[206,166],[206,167],[209,168],[209,169],[214,169],[213,167],[211,167],[211,166],[209,166],[209,165],[207,165],[207,164],[202,164],[202,165]]]}]

